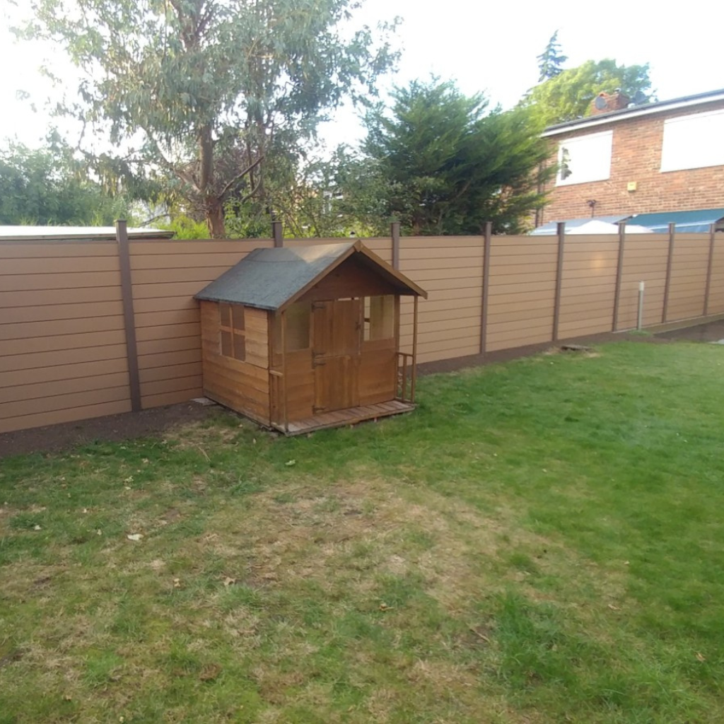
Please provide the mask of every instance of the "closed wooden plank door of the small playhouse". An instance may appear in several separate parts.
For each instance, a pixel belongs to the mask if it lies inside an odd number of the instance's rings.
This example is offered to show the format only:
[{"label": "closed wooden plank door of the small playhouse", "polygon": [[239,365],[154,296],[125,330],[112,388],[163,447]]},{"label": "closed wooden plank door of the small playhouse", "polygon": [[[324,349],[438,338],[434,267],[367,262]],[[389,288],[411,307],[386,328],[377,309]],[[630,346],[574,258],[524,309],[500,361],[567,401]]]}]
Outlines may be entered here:
[{"label": "closed wooden plank door of the small playhouse", "polygon": [[359,299],[312,305],[314,413],[359,405],[362,324]]}]

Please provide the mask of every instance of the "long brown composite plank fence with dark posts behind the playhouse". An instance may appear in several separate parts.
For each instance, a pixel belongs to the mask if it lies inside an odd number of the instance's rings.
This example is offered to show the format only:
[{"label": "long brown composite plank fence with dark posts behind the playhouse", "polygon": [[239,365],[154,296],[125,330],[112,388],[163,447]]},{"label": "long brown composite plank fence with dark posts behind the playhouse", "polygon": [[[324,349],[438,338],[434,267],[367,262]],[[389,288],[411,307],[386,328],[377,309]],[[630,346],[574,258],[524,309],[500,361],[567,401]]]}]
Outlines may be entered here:
[{"label": "long brown composite plank fence with dark posts behind the playhouse", "polygon": [[[285,245],[339,242],[284,240]],[[724,235],[392,237],[418,361],[724,313]],[[202,394],[193,295],[274,240],[0,241],[0,432]],[[412,304],[403,302],[403,350]]]}]

